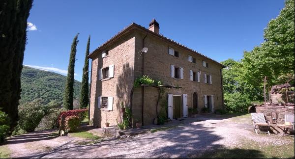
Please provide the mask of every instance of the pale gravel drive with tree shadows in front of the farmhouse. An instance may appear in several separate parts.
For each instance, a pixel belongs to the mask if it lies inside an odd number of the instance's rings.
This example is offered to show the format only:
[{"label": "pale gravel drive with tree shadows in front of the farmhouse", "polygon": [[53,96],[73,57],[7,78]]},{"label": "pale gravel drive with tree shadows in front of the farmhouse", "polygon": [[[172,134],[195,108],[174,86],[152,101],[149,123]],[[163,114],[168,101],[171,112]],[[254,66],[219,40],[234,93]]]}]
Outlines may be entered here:
[{"label": "pale gravel drive with tree shadows in front of the farmhouse", "polygon": [[[275,145],[294,142],[277,135],[257,136],[251,125],[240,126],[227,119],[190,118],[181,122],[166,131],[89,145],[77,145],[83,139],[73,137],[46,138],[51,132],[26,134],[38,139],[29,141],[22,136],[29,142],[16,142],[11,138],[9,148],[14,151],[12,158],[188,158],[216,148],[236,147],[242,144],[241,139]],[[45,138],[40,139],[42,136]]]}]

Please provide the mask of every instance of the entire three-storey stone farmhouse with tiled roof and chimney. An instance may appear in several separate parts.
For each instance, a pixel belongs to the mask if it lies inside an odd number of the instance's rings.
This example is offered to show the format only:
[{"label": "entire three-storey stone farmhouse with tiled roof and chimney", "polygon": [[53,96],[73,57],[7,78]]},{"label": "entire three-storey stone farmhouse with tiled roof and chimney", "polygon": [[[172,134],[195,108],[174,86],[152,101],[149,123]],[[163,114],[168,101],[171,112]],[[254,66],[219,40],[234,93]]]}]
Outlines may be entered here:
[{"label": "entire three-storey stone farmhouse with tiled roof and chimney", "polygon": [[[143,48],[148,48],[144,53]],[[188,116],[188,108],[201,112],[223,109],[222,69],[224,65],[160,34],[152,20],[148,29],[132,23],[89,54],[91,63],[90,120],[94,126],[121,122],[120,103],[129,107],[135,119],[153,124],[157,111],[158,88],[133,88],[143,75],[161,79],[163,97],[170,119]],[[156,108],[158,110],[156,110]]]}]

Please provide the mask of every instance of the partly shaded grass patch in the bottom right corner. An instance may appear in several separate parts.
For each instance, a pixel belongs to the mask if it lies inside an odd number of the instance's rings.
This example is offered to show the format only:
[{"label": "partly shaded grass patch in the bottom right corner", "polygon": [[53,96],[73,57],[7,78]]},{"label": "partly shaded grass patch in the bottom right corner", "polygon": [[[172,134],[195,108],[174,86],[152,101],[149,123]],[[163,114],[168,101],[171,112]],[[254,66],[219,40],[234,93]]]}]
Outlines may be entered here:
[{"label": "partly shaded grass patch in the bottom right corner", "polygon": [[192,158],[294,159],[294,149],[294,142],[285,145],[265,145],[253,140],[243,140],[243,144],[236,148],[216,148],[214,151],[207,151],[201,156],[192,156]]}]

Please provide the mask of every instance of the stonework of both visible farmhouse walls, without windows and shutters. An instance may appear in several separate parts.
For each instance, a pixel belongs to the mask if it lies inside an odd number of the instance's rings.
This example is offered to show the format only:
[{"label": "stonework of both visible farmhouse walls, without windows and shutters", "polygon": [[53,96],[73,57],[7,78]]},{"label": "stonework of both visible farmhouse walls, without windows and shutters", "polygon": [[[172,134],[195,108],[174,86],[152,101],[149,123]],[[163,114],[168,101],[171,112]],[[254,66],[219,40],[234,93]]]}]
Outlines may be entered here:
[{"label": "stonework of both visible farmhouse walls, without windows and shutters", "polygon": [[[130,26],[129,26],[130,27]],[[125,29],[126,30],[126,29]],[[223,66],[209,58],[194,53],[172,43],[168,40],[154,35],[148,29],[127,28],[129,32],[116,35],[118,40],[106,43],[91,53],[91,84],[90,84],[90,120],[93,125],[104,127],[108,121],[110,125],[120,122],[120,102],[130,107],[133,118],[142,120],[144,113],[144,125],[153,123],[156,118],[156,103],[158,89],[155,87],[133,88],[134,79],[142,75],[148,75],[152,79],[161,79],[164,85],[180,86],[182,88],[164,88],[163,100],[167,100],[168,94],[187,94],[188,107],[193,106],[193,94],[198,95],[197,108],[199,112],[204,107],[204,95],[212,95],[214,98],[214,109],[223,109],[223,92],[221,69]],[[116,37],[115,36],[115,37]],[[147,47],[148,53],[141,50]],[[179,57],[168,54],[171,47],[178,52]],[[102,58],[101,51],[109,50],[109,55]],[[141,54],[141,55],[140,55]],[[196,58],[196,63],[188,61],[188,55]],[[203,67],[206,61],[209,67]],[[114,78],[98,79],[100,68],[114,64]],[[171,78],[171,65],[183,68],[183,79]],[[201,72],[200,82],[191,81],[189,70]],[[212,84],[204,82],[204,75],[211,75]],[[144,90],[143,90],[144,89]],[[142,94],[144,92],[144,95]],[[98,108],[98,97],[114,97],[113,111]],[[144,102],[143,102],[144,101]],[[144,103],[144,106],[143,106]],[[144,110],[143,110],[144,109]],[[158,106],[158,110],[161,106]],[[133,125],[135,122],[133,121]]]}]

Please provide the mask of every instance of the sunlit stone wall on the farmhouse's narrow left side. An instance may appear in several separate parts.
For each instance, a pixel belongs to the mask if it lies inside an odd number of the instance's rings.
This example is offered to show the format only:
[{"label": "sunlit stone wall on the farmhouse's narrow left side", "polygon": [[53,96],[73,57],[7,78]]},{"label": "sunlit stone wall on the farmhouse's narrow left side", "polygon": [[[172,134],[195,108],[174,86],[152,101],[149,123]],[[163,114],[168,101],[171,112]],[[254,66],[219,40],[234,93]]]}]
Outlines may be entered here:
[{"label": "sunlit stone wall on the farmhouse's narrow left side", "polygon": [[[120,121],[120,102],[130,106],[130,93],[134,80],[134,46],[133,34],[120,39],[111,46],[109,55],[102,58],[101,52],[92,59],[91,85],[90,85],[90,120],[93,125],[105,127],[106,121],[110,126],[117,125]],[[100,68],[114,64],[114,78],[99,80]],[[113,97],[113,111],[98,108],[98,97]]]}]

